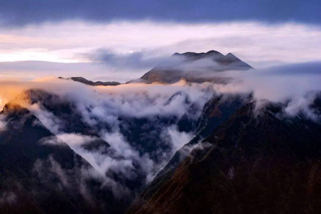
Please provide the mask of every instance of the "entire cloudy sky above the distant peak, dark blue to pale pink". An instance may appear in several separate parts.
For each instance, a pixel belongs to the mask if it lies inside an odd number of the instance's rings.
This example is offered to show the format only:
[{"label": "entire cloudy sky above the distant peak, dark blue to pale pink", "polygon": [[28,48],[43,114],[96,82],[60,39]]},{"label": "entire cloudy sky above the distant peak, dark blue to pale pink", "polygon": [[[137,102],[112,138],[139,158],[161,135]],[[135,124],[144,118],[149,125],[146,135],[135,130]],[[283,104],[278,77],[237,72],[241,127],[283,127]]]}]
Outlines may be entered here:
[{"label": "entire cloudy sky above the distant peak, dark blue to pale pink", "polygon": [[126,82],[187,51],[232,52],[255,68],[321,61],[320,8],[320,1],[1,1],[0,78]]}]

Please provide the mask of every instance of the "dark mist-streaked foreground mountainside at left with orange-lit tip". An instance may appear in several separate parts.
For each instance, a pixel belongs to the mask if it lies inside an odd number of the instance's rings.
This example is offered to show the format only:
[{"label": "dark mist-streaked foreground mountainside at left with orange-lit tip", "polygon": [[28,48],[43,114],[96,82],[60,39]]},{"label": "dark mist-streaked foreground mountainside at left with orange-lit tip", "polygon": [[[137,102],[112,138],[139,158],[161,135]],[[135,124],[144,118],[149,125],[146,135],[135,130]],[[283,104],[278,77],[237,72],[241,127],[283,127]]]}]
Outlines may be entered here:
[{"label": "dark mist-streaked foreground mountainside at left with orange-lit tip", "polygon": [[[92,166],[55,136],[27,109],[7,104],[1,112],[1,213],[123,213],[130,199],[116,196],[84,171]],[[8,199],[8,200],[9,200]]]}]

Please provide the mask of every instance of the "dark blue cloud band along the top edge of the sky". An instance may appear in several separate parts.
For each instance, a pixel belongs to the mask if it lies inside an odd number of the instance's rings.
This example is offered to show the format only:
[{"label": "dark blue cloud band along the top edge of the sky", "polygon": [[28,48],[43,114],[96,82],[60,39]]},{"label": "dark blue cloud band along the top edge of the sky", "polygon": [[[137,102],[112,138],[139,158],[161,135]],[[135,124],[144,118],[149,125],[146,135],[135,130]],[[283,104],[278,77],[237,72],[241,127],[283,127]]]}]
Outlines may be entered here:
[{"label": "dark blue cloud band along the top edge of the sky", "polygon": [[10,27],[66,19],[98,22],[150,19],[179,22],[296,21],[320,24],[320,7],[319,0],[2,0],[0,23]]}]

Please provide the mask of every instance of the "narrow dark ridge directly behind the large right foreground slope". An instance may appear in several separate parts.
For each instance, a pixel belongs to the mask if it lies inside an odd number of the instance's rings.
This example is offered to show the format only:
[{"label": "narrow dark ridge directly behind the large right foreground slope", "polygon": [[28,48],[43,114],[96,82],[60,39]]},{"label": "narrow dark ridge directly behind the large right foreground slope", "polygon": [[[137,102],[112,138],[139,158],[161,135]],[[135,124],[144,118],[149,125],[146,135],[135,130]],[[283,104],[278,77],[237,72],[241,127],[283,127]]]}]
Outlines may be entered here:
[{"label": "narrow dark ridge directly behind the large right foreground slope", "polygon": [[203,113],[196,123],[195,137],[175,152],[166,166],[158,172],[153,181],[142,191],[133,202],[133,206],[139,206],[148,201],[157,189],[167,182],[178,165],[188,156],[198,142],[207,138],[220,124],[224,123],[230,115],[250,100],[251,95],[219,95],[211,99],[204,107]]}]

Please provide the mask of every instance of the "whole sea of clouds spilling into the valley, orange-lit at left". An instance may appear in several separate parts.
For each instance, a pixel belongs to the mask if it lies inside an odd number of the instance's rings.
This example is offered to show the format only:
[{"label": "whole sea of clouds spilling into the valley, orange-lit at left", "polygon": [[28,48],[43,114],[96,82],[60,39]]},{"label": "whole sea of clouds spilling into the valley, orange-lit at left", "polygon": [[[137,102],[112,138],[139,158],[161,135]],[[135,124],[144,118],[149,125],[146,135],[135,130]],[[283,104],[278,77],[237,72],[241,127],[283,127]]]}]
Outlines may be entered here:
[{"label": "whole sea of clouds spilling into the valley, orange-lit at left", "polygon": [[[268,99],[283,103],[283,113],[286,116],[293,117],[301,114],[315,122],[320,122],[320,112],[311,107],[321,91],[320,68],[320,62],[309,62],[261,70],[226,71],[220,72],[219,76],[232,79],[229,83],[221,84],[187,83],[181,80],[173,84],[129,83],[117,86],[89,86],[55,77],[32,81],[1,81],[0,101],[2,106],[12,102],[29,109],[57,136],[58,140],[47,140],[43,143],[57,144],[60,141],[67,143],[91,164],[96,171],[96,176],[97,172],[101,177],[109,170],[113,170],[128,178],[139,177],[134,170],[138,165],[140,173],[143,172],[145,183],[148,183],[166,165],[172,155],[188,143],[195,134],[193,130],[179,131],[178,119],[187,115],[190,121],[197,121],[204,110],[204,105],[217,95],[252,94],[253,100]],[[95,130],[97,135],[65,132],[65,124],[61,118],[44,107],[41,101],[31,103],[25,97],[24,91],[28,89],[47,91],[57,96],[59,99],[57,102],[72,103],[81,121]],[[265,105],[265,102],[257,103]],[[190,110],[191,108],[193,111]],[[143,145],[128,141],[126,135],[131,133],[124,132],[122,129],[124,127],[126,129],[126,125],[133,126],[133,124],[125,123],[124,118],[144,118],[160,130],[155,135],[160,138],[159,145],[155,144],[155,151],[143,153],[140,148]],[[177,120],[166,124],[159,123],[155,118],[177,118]],[[3,129],[6,122],[4,118],[0,119],[0,128]],[[146,134],[152,135],[152,132]],[[82,147],[97,138],[108,142],[110,147],[97,150]],[[161,143],[162,145],[165,143],[168,147],[164,149],[160,146]],[[117,154],[114,152],[111,155],[106,152],[108,149],[116,151]],[[114,184],[115,181],[108,182]]]}]

